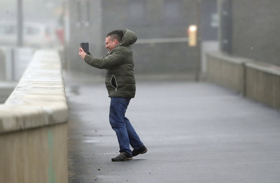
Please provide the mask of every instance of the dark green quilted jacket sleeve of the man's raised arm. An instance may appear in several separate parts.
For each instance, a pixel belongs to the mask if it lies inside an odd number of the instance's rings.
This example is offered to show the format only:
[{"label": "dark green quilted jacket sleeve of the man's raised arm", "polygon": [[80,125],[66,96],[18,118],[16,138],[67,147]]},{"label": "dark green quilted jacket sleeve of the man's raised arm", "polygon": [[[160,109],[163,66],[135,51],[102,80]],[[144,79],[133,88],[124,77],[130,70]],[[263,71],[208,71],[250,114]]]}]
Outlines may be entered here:
[{"label": "dark green quilted jacket sleeve of the man's raised arm", "polygon": [[112,54],[103,57],[95,57],[91,55],[86,55],[84,60],[90,66],[99,69],[110,69],[121,65],[125,62],[125,55],[121,50],[114,50]]}]

